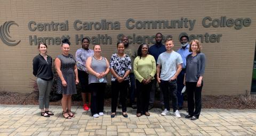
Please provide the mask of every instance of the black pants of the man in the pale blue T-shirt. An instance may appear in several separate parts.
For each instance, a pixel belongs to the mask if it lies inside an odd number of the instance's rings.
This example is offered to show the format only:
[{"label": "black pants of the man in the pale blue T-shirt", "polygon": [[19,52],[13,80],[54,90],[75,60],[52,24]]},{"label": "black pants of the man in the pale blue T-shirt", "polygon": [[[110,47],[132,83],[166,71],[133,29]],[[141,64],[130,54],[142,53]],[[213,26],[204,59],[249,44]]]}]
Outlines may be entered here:
[{"label": "black pants of the man in the pale blue T-shirt", "polygon": [[[172,107],[173,112],[178,109],[178,98],[177,98],[177,81],[162,81],[159,83],[161,90],[163,91],[164,95],[164,108],[170,110],[170,93],[172,95]],[[170,93],[169,93],[170,92]]]}]

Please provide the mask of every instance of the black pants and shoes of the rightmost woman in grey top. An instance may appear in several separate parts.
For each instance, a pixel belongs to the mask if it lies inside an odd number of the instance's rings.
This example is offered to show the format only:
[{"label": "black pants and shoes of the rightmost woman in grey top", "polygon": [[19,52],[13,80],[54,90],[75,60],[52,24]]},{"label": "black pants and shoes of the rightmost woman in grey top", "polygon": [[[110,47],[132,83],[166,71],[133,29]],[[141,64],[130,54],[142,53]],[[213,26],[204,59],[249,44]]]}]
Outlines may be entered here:
[{"label": "black pants and shoes of the rightmost woman in grey top", "polygon": [[[202,87],[203,81],[200,87],[196,87],[197,82],[186,82],[186,91],[188,93],[188,114],[199,118],[202,109]],[[194,101],[195,95],[195,101]]]}]

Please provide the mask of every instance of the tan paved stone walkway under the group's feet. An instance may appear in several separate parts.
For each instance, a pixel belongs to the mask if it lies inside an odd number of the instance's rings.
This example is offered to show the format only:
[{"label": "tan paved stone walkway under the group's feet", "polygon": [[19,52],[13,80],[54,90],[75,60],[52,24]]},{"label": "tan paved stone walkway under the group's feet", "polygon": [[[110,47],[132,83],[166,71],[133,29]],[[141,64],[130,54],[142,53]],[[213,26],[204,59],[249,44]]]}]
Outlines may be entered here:
[{"label": "tan paved stone walkway under the group's feet", "polygon": [[128,118],[90,116],[90,111],[74,106],[76,117],[62,117],[61,106],[50,106],[55,114],[40,116],[38,106],[0,105],[0,135],[256,135],[256,110],[203,109],[196,121],[172,115],[161,116],[162,110],[153,108],[150,116],[136,117],[136,110],[127,108]]}]

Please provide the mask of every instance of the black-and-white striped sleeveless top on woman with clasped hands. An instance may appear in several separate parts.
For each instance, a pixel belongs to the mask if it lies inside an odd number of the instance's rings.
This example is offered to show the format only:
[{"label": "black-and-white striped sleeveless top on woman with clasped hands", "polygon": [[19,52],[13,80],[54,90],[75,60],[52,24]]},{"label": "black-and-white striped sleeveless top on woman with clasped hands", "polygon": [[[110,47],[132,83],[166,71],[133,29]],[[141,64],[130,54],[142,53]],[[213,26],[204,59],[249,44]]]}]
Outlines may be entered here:
[{"label": "black-and-white striped sleeveless top on woman with clasped hands", "polygon": [[[94,58],[94,56],[92,56],[91,68],[97,73],[105,72],[107,69],[107,61],[105,57],[102,57],[101,60],[97,60]],[[103,78],[104,78],[104,81],[102,83],[107,83],[108,82],[107,76],[104,76]],[[89,84],[91,83],[100,83],[100,82],[97,76],[89,73]]]}]

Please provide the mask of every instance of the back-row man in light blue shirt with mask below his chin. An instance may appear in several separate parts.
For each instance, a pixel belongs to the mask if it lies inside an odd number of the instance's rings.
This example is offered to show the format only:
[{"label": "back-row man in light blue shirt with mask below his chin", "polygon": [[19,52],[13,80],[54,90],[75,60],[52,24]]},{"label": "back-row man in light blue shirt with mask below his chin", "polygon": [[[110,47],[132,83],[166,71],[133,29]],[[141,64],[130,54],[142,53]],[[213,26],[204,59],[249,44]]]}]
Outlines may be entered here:
[{"label": "back-row man in light blue shirt with mask below his chin", "polygon": [[191,54],[191,52],[189,52],[189,44],[188,44],[189,38],[187,35],[183,35],[180,37],[180,43],[181,43],[181,48],[177,51],[182,58],[182,70],[180,72],[180,74],[177,77],[177,97],[178,97],[178,106],[179,109],[182,109],[183,106],[183,94],[181,93],[184,84],[184,75],[186,72],[186,58],[188,56],[188,54]]}]

